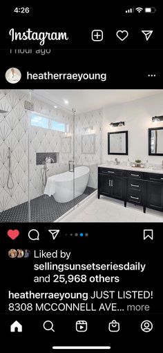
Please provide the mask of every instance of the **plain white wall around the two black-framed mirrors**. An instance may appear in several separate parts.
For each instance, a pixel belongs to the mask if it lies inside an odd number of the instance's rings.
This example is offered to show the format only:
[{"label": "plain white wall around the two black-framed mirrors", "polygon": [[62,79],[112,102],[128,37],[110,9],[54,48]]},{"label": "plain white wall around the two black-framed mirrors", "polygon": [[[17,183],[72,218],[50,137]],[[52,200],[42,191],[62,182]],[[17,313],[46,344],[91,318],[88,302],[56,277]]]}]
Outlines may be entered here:
[{"label": "plain white wall around the two black-framed mirrors", "polygon": [[[163,156],[148,155],[148,128],[161,127],[163,122],[154,124],[152,117],[163,115],[163,94],[153,95],[133,102],[106,106],[103,109],[102,160],[131,162],[140,159],[142,162],[162,163]],[[124,121],[125,126],[111,128],[111,122]],[[108,155],[108,132],[128,130],[128,156]]]}]

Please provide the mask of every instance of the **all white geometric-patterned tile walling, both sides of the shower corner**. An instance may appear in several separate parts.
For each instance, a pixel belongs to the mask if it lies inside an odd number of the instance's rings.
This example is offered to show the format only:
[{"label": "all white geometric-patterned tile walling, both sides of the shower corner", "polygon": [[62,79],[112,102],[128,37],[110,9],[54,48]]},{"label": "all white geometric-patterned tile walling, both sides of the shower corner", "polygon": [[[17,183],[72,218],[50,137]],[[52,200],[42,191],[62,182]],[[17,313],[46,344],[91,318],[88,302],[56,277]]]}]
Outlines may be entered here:
[{"label": "all white geometric-patterned tile walling, both sides of the shower corner", "polygon": [[[32,95],[31,100],[37,113],[68,124],[72,137],[65,138],[61,131],[30,126],[30,111],[24,108],[25,100],[30,100],[28,90],[0,90],[0,109],[7,111],[0,114],[0,212],[28,201],[28,180],[30,198],[42,195],[41,165],[37,164],[36,155],[50,155],[55,160],[55,163],[48,164],[48,176],[68,171],[68,160],[73,158],[73,115],[66,115],[58,109],[56,111],[52,105]],[[81,136],[89,126],[95,130],[95,154],[90,155],[81,153]],[[101,132],[102,111],[75,116],[75,165],[90,166],[88,186],[93,188],[97,188],[97,164],[102,158]],[[7,187],[9,147],[14,184],[10,185],[12,189]]]}]

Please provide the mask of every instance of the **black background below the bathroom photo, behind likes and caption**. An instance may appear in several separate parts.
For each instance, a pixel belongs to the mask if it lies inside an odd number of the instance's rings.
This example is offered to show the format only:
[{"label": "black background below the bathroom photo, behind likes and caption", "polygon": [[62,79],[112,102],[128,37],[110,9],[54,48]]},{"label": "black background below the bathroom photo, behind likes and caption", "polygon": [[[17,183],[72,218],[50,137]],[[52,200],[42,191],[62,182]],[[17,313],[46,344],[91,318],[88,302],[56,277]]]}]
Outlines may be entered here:
[{"label": "black background below the bathroom photo, behind likes and caption", "polygon": [[[55,225],[55,226],[54,226]],[[57,225],[57,227],[56,227]],[[19,229],[20,236],[17,240],[11,240],[7,236],[8,229]],[[1,225],[1,318],[3,322],[2,332],[5,340],[12,341],[12,352],[21,352],[23,342],[32,341],[32,348],[40,352],[52,352],[52,345],[111,345],[111,352],[125,350],[131,352],[153,352],[160,347],[162,330],[162,238],[160,227],[151,224],[150,229],[154,230],[154,240],[143,240],[143,231],[148,229],[146,224],[4,224]],[[39,241],[28,239],[28,231],[37,229],[40,233]],[[60,229],[59,236],[52,240],[48,229]],[[75,233],[88,233],[88,237],[75,236]],[[73,236],[70,236],[70,233]],[[67,236],[66,236],[67,234]],[[29,259],[10,259],[8,250],[30,249]],[[48,283],[45,285],[33,283],[33,276],[44,276],[52,271],[33,271],[34,263],[44,263],[45,259],[33,258],[34,249],[55,251],[62,249],[71,251],[71,260],[67,263],[135,263],[140,261],[146,263],[146,270],[140,271],[99,271],[103,276],[119,276],[119,283],[87,283],[62,285]],[[64,263],[64,260],[46,259],[53,263]],[[5,271],[4,271],[5,269]],[[62,274],[62,273],[61,273]],[[81,274],[81,273],[80,273]],[[85,272],[82,272],[85,274]],[[99,274],[97,271],[88,271],[89,276]],[[8,312],[8,290],[11,292],[93,292],[94,290],[153,290],[152,300],[119,300],[119,307],[126,304],[150,305],[149,312]],[[40,302],[56,302],[57,300],[36,300]],[[66,300],[68,303],[71,300]],[[81,301],[81,300],[77,300]],[[19,300],[10,300],[17,303]],[[32,303],[32,300],[21,300],[21,303]],[[102,300],[103,303],[110,303],[110,300]],[[116,302],[115,299],[111,302]],[[6,304],[4,304],[6,303]],[[108,332],[108,323],[113,319],[120,323],[118,333]],[[10,324],[18,320],[23,325],[22,333],[10,333]],[[43,323],[51,320],[54,323],[55,333],[45,332]],[[77,320],[88,321],[88,331],[78,333],[75,331]],[[153,330],[144,333],[140,325],[144,320],[153,322]],[[2,335],[3,336],[3,335]],[[19,344],[20,346],[19,346]],[[16,348],[17,347],[17,348]]]}]

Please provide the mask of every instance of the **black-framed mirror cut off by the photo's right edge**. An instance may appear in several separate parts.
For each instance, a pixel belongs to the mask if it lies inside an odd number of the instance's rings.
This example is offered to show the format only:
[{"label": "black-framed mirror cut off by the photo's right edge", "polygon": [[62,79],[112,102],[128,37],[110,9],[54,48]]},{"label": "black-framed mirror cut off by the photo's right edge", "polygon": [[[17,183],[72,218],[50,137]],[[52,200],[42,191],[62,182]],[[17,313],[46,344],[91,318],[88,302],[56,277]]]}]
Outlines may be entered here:
[{"label": "black-framed mirror cut off by the photo's right edge", "polygon": [[148,155],[163,155],[163,127],[148,128]]}]

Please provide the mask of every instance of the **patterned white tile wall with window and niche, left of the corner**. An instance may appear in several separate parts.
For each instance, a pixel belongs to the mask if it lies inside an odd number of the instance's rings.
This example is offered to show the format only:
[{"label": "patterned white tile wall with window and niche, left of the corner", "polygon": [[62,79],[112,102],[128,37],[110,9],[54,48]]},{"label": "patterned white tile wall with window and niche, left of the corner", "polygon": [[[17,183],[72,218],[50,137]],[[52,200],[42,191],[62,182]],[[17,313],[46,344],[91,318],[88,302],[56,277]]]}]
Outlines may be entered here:
[{"label": "patterned white tile wall with window and niche, left of the corner", "polygon": [[[36,198],[41,191],[41,166],[36,166],[37,152],[59,152],[59,163],[49,164],[48,175],[68,170],[68,160],[72,159],[73,139],[68,145],[68,153],[61,152],[63,133],[44,128],[30,127],[29,111],[24,101],[30,100],[26,90],[0,90],[0,109],[8,111],[0,114],[0,211],[5,211],[28,200],[28,132],[30,131],[30,198]],[[48,115],[57,121],[65,122],[73,132],[73,117],[56,111],[52,106],[32,97],[35,111]],[[11,172],[13,189],[8,189],[8,147],[11,151]],[[10,185],[11,186],[11,180]]]}]

